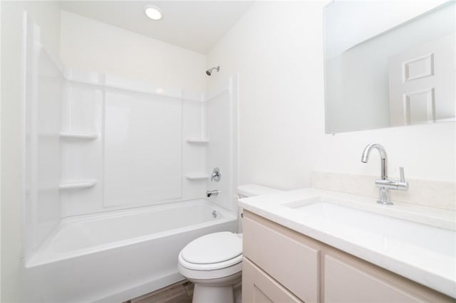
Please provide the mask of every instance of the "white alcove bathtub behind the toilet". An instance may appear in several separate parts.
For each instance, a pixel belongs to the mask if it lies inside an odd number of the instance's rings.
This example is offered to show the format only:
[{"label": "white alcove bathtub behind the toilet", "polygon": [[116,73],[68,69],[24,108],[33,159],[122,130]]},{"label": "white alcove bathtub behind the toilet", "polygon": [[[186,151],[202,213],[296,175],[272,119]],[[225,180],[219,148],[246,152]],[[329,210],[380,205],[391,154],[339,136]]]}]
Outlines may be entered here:
[{"label": "white alcove bathtub behind the toilet", "polygon": [[25,302],[123,302],[183,280],[177,255],[207,233],[237,230],[207,200],[64,218],[25,260]]}]

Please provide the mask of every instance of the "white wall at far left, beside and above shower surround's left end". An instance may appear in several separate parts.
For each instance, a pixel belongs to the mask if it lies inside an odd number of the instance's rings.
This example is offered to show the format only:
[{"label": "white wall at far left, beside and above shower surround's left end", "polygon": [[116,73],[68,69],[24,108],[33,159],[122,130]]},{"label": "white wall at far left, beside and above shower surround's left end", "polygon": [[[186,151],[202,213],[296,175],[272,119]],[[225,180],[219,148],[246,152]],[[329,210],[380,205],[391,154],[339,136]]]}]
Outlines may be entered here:
[{"label": "white wall at far left, beside and above shower surround's left end", "polygon": [[21,37],[26,9],[43,31],[42,43],[58,54],[57,2],[1,3],[1,302],[20,301],[22,252]]}]

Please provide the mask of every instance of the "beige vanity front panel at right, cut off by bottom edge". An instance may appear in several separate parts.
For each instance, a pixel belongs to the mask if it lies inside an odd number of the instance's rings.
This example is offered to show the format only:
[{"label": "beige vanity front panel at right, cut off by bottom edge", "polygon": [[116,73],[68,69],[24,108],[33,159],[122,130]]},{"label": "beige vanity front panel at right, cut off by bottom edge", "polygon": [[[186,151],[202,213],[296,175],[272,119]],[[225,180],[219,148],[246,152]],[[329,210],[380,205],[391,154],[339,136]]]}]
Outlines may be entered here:
[{"label": "beige vanity front panel at right, cut off by bottom edge", "polygon": [[324,267],[326,303],[430,302],[337,257],[325,255]]}]

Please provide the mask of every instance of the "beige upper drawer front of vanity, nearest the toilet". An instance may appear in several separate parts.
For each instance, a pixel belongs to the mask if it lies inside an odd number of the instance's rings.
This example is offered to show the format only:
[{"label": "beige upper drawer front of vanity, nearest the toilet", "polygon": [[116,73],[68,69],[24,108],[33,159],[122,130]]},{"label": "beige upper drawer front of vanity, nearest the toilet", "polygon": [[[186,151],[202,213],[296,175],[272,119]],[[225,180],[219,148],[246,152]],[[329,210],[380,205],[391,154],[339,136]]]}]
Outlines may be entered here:
[{"label": "beige upper drawer front of vanity, nearest the toilet", "polygon": [[244,212],[244,256],[304,302],[319,302],[320,250],[313,241]]}]

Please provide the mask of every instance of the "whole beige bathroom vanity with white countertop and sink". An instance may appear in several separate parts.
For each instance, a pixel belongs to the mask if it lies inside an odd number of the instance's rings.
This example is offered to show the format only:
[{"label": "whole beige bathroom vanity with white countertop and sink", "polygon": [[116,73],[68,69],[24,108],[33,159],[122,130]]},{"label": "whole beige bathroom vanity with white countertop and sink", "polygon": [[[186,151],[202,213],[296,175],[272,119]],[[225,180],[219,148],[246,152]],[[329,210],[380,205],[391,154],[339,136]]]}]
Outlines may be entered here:
[{"label": "whole beige bathroom vanity with white countertop and sink", "polygon": [[243,302],[456,302],[454,212],[314,188],[239,204]]}]

